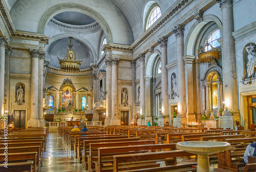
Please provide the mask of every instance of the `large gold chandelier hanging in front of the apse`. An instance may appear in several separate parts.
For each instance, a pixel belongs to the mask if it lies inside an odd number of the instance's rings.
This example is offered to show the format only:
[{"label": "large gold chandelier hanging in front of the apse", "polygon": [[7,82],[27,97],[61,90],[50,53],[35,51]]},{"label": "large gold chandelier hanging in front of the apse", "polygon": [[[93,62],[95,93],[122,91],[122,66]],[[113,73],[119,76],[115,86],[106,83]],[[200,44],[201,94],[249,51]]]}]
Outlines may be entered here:
[{"label": "large gold chandelier hanging in front of the apse", "polygon": [[69,50],[67,53],[67,56],[64,59],[59,59],[59,64],[60,64],[60,70],[61,71],[66,71],[66,72],[79,72],[80,71],[80,65],[82,61],[78,61],[75,58],[75,53],[74,50],[72,50],[72,44],[71,44],[71,39],[70,38],[70,44],[69,44]]}]

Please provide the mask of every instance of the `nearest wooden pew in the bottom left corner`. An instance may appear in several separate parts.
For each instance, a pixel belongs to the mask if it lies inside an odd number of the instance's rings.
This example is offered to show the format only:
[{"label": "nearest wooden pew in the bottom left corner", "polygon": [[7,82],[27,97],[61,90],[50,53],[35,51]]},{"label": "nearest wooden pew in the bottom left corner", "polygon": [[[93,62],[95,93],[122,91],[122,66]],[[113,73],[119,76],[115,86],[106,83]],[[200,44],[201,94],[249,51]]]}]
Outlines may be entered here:
[{"label": "nearest wooden pew in the bottom left corner", "polygon": [[[4,164],[4,158],[5,158],[6,154],[0,154],[0,160],[1,165]],[[26,153],[8,153],[8,168],[9,168],[9,164],[10,163],[15,163],[17,161],[24,161],[24,160],[32,160],[33,161],[33,165],[32,165],[32,171],[36,171],[37,166],[36,166],[36,161],[37,161],[37,152],[26,152]],[[5,164],[4,164],[5,165]],[[17,166],[16,166],[17,167]],[[2,166],[0,167],[1,171],[4,171],[4,168],[2,168]],[[12,171],[18,171],[19,169],[17,168],[16,170]]]}]

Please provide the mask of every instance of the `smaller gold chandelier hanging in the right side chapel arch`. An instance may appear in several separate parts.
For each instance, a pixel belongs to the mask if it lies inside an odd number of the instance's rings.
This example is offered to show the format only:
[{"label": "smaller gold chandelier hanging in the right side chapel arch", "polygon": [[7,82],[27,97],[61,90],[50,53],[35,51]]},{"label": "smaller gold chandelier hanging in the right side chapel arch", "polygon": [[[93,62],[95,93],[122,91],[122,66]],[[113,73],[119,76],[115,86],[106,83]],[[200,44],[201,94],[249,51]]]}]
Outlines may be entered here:
[{"label": "smaller gold chandelier hanging in the right side chapel arch", "polygon": [[[206,48],[211,48],[209,51],[206,51]],[[219,54],[220,52],[218,51],[218,48],[212,47],[208,41],[205,43],[204,46],[200,46],[198,51],[198,58],[200,64],[205,64],[205,63],[210,63],[212,61],[217,61],[219,60]]]}]

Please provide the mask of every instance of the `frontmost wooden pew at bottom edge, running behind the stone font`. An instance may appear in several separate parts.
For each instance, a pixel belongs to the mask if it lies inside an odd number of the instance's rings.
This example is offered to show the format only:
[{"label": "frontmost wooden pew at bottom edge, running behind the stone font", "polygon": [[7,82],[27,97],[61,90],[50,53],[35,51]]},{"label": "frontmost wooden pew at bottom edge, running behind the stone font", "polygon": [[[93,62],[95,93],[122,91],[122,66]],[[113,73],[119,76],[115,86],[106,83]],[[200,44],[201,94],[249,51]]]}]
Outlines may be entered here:
[{"label": "frontmost wooden pew at bottom edge, running behind the stone font", "polygon": [[[194,154],[187,153],[182,150],[176,150],[176,151],[165,151],[165,152],[153,152],[153,153],[141,153],[141,154],[127,154],[127,155],[114,155],[114,163],[113,163],[113,171],[140,171],[142,168],[147,168],[146,166],[138,166],[138,161],[141,162],[146,162],[146,161],[151,161],[151,160],[159,160],[164,158],[176,158],[176,157],[181,157],[181,156],[191,156]],[[119,168],[120,164],[126,163],[126,168]],[[136,164],[135,164],[136,163]],[[134,165],[133,165],[134,164]],[[192,164],[190,164],[192,167]],[[195,163],[193,163],[195,165]],[[176,166],[177,167],[177,166]],[[178,166],[183,168],[183,166]],[[167,168],[167,169],[166,169]],[[175,168],[175,166],[166,166],[164,170],[169,170],[169,168]],[[137,170],[136,170],[137,169]],[[139,169],[139,170],[138,170]],[[163,167],[152,167],[147,170],[151,171],[158,171],[158,169],[161,169],[163,171]],[[175,168],[177,171],[177,168]],[[159,170],[159,171],[161,171]],[[175,171],[175,170],[173,170]],[[188,171],[187,169],[185,171]],[[196,168],[190,168],[189,171],[196,171]]]}]

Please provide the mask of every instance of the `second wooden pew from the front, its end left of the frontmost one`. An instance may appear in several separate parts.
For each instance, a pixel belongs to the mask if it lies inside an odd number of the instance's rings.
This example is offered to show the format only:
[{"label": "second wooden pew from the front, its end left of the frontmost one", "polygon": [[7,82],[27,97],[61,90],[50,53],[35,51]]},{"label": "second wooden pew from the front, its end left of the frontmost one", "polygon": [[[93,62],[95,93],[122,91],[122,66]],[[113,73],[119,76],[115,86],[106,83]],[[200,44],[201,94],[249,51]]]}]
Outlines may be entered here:
[{"label": "second wooden pew from the front, its end left of the frontmost one", "polygon": [[[143,143],[143,142],[142,142]],[[145,142],[144,142],[145,143]],[[117,144],[118,145],[118,144]],[[102,146],[102,148],[100,148]],[[97,157],[93,158],[92,150],[94,148],[98,148],[98,154]],[[164,149],[165,151],[171,151],[176,150],[176,144],[139,144],[139,145],[123,145],[123,146],[115,146],[115,145],[102,145],[97,143],[91,143],[90,144],[90,155],[88,157],[88,171],[104,171],[104,172],[111,172],[113,171],[113,168],[110,168],[108,166],[107,168],[104,168],[102,165],[102,160],[105,162],[113,162],[113,157],[110,157],[112,155],[118,155],[118,154],[131,154],[131,153],[142,153],[145,151],[152,151],[152,150],[160,150]],[[93,169],[93,162],[95,163],[95,169]],[[167,165],[176,165],[176,158],[172,160],[166,160],[165,161]]]}]

